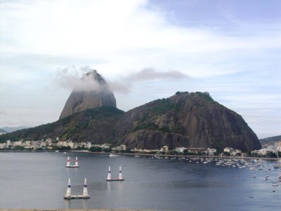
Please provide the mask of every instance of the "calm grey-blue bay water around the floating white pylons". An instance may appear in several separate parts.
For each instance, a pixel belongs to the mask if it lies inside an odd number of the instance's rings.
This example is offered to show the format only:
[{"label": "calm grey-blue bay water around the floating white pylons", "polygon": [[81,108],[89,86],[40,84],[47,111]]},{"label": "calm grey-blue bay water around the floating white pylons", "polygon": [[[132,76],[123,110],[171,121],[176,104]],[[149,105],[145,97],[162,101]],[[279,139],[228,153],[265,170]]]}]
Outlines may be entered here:
[{"label": "calm grey-blue bay water around the floating white pylons", "polygon": [[[79,168],[66,168],[78,156]],[[217,166],[189,160],[134,158],[90,153],[0,153],[0,208],[142,209],[142,210],[281,210],[281,170]],[[108,166],[125,181],[105,181]],[[253,177],[256,174],[256,178]],[[265,180],[268,175],[268,180]],[[84,179],[91,198],[65,200],[68,178],[72,194],[81,195]]]}]

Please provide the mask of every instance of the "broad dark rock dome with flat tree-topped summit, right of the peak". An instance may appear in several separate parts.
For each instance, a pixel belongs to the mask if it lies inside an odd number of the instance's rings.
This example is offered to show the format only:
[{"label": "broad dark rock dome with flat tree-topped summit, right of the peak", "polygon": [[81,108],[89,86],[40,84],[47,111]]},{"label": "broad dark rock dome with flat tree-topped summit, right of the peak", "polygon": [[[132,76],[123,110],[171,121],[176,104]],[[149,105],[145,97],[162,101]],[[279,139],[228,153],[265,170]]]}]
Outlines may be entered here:
[{"label": "broad dark rock dome with flat tree-topped summit, right of the peak", "polygon": [[200,92],[178,93],[129,110],[117,124],[115,139],[129,148],[261,148],[240,115]]}]

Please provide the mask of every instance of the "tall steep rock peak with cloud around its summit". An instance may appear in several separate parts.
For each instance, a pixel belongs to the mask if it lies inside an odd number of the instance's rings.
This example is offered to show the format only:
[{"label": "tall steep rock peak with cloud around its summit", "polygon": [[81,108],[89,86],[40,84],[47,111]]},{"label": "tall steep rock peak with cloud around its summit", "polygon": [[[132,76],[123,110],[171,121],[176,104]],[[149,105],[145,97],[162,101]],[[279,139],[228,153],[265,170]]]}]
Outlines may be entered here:
[{"label": "tall steep rock peak with cloud around its summit", "polygon": [[101,106],[116,108],[114,94],[96,70],[88,72],[81,80],[84,80],[85,84],[88,82],[89,86],[72,91],[60,114],[60,119],[89,108]]}]

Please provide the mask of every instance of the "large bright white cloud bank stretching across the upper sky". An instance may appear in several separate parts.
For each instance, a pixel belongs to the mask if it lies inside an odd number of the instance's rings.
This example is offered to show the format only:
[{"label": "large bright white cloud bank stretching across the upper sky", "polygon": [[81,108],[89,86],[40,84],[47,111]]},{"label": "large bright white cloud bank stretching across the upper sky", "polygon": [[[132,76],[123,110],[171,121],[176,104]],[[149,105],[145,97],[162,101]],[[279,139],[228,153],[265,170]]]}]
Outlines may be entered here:
[{"label": "large bright white cloud bank stretching across the upper sky", "polygon": [[8,1],[0,9],[1,52],[99,58],[107,63],[95,68],[104,72],[154,67],[201,77],[239,71],[217,64],[244,50],[249,55],[281,46],[280,31],[240,37],[174,27],[146,5],[141,0]]}]

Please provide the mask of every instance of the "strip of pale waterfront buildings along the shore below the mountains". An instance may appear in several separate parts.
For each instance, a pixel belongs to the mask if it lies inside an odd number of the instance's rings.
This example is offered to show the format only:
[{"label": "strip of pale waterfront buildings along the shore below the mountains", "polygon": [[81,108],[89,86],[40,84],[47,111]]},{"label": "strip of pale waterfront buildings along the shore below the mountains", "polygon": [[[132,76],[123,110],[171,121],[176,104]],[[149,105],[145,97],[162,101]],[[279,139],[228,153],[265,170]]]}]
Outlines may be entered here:
[{"label": "strip of pale waterfront buildings along the shore below the mountains", "polygon": [[[115,146],[112,148],[110,143],[103,143],[101,145],[92,144],[91,141],[87,143],[84,142],[73,142],[71,140],[61,140],[57,138],[56,140],[52,139],[41,139],[38,141],[34,140],[18,140],[18,141],[11,141],[8,140],[5,143],[0,143],[0,150],[32,150],[32,151],[42,151],[42,150],[89,150],[92,147],[101,148],[103,151],[116,151],[116,152],[131,152],[131,153],[178,153],[178,154],[185,154],[185,153],[192,153],[198,155],[219,155],[215,148],[185,148],[185,147],[176,147],[174,149],[170,149],[168,146],[162,146],[160,149],[127,149],[126,145],[122,144],[120,146]],[[278,157],[278,152],[281,152],[281,141],[275,143],[274,146],[265,146],[265,148],[261,148],[258,151],[252,151],[251,155],[266,157],[270,155],[276,155]],[[232,156],[246,156],[245,153],[242,151],[234,148],[224,148],[223,153],[225,155],[232,155]]]}]

